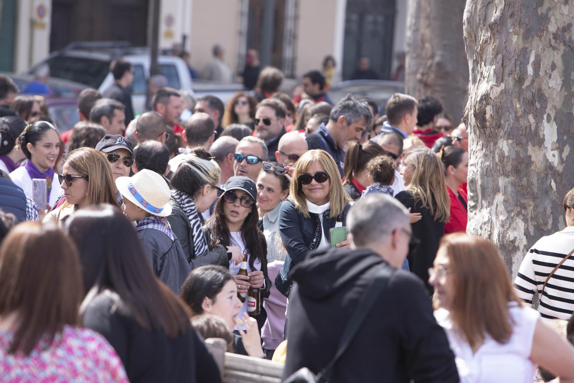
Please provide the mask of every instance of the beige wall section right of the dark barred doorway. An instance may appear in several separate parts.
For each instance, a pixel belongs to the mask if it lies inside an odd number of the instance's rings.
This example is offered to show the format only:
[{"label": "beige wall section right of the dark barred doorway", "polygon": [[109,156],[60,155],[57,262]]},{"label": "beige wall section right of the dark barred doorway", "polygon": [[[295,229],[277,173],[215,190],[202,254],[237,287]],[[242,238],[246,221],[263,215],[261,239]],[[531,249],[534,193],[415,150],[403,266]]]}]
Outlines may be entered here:
[{"label": "beige wall section right of the dark barred doorway", "polygon": [[[323,59],[333,55],[335,44],[335,0],[304,0],[299,2],[297,32],[297,76],[320,70]],[[320,15],[320,19],[319,16]]]}]

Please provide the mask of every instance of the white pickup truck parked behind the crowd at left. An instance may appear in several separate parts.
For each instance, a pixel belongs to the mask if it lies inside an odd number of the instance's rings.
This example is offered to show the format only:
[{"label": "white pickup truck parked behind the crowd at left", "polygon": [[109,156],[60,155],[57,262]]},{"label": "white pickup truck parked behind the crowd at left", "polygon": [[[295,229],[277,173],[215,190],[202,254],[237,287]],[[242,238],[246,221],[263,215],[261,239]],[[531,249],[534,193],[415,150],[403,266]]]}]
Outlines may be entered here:
[{"label": "white pickup truck parked behind the crowd at left", "polygon": [[[46,63],[50,67],[52,77],[82,83],[102,92],[114,82],[109,68],[112,60],[117,58],[125,58],[133,64],[131,104],[135,114],[143,113],[150,69],[149,48],[130,47],[126,43],[106,41],[72,43],[61,51],[51,53],[27,73],[32,74],[38,65]],[[193,81],[187,64],[176,56],[158,55],[157,62],[160,74],[168,79],[169,87],[190,91],[196,98],[211,94],[226,104],[233,94],[244,90],[243,85],[238,83]]]}]

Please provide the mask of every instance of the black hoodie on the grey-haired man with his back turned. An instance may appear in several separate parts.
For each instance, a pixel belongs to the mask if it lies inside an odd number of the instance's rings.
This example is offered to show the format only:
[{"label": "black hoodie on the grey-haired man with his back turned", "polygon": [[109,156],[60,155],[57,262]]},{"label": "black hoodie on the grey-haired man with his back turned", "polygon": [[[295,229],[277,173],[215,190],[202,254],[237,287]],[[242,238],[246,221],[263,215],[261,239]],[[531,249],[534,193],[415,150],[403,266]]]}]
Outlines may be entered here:
[{"label": "black hoodie on the grey-haired man with his back turned", "polygon": [[[301,367],[319,373],[336,352],[364,289],[381,267],[371,250],[313,253],[293,268],[284,377]],[[333,369],[337,382],[458,382],[455,358],[420,279],[395,270]]]}]

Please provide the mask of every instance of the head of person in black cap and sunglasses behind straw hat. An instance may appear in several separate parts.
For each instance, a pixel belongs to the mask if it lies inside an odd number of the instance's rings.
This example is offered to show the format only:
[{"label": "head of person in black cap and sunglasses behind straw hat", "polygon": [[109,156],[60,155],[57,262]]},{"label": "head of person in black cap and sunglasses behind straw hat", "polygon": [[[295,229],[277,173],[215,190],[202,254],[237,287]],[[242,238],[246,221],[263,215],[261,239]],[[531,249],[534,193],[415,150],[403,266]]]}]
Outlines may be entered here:
[{"label": "head of person in black cap and sunglasses behind straw hat", "polygon": [[96,145],[96,150],[106,155],[114,181],[119,177],[130,176],[131,166],[134,164],[134,152],[128,139],[120,135],[105,135]]}]

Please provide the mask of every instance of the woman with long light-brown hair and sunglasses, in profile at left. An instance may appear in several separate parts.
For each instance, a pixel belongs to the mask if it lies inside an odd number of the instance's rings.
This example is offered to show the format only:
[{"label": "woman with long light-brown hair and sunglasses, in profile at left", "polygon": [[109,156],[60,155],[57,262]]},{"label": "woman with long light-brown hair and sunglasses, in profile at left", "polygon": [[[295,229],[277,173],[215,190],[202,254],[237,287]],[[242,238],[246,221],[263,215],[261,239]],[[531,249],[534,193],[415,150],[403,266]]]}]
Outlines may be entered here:
[{"label": "woman with long light-brown hair and sunglasses, in profile at left", "polygon": [[65,201],[49,212],[42,223],[62,226],[73,212],[84,206],[110,204],[119,208],[110,164],[99,151],[88,147],[72,151],[57,177]]}]

